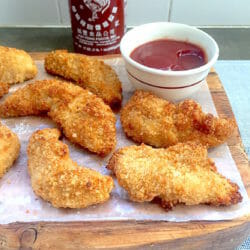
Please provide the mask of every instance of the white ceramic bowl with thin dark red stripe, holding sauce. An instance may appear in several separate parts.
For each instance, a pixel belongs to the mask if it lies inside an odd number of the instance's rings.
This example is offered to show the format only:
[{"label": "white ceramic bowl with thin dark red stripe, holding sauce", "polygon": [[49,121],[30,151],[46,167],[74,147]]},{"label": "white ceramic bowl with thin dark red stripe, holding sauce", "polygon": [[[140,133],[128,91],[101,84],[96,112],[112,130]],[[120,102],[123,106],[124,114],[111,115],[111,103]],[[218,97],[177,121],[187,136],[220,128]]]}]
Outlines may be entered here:
[{"label": "white ceramic bowl with thin dark red stripe, holding sauce", "polygon": [[[190,70],[167,71],[146,67],[131,59],[131,52],[139,45],[162,38],[198,45],[205,51],[207,63]],[[120,50],[129,80],[135,88],[152,91],[170,101],[184,99],[196,92],[219,56],[217,43],[207,33],[185,24],[169,22],[144,24],[130,30],[122,38]]]}]

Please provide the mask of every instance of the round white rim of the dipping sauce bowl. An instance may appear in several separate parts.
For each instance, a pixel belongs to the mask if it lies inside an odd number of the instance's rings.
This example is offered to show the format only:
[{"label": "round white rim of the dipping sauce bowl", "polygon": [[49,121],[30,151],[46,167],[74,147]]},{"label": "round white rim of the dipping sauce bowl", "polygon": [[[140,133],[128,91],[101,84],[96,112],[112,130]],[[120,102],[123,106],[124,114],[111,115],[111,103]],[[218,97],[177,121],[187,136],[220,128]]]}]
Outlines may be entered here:
[{"label": "round white rim of the dipping sauce bowl", "polygon": [[[188,28],[193,30],[194,32],[199,32],[202,33],[204,36],[206,36],[214,45],[215,47],[215,53],[212,56],[212,58],[204,65],[197,67],[197,68],[193,68],[193,69],[189,69],[189,70],[179,70],[179,71],[166,71],[166,70],[162,70],[162,69],[155,69],[155,68],[150,68],[147,66],[144,66],[138,62],[136,62],[135,60],[133,60],[130,55],[127,55],[127,53],[125,53],[125,49],[124,49],[124,40],[125,38],[131,34],[132,32],[135,32],[136,30],[145,28],[147,26],[158,26],[158,25],[166,25],[166,26],[179,26],[179,27],[184,27],[184,28]],[[197,74],[203,71],[206,71],[208,69],[210,69],[214,63],[217,61],[218,57],[219,57],[219,47],[218,44],[216,43],[216,41],[213,39],[213,37],[211,37],[208,33],[204,32],[203,30],[200,30],[196,27],[187,25],[187,24],[183,24],[183,23],[174,23],[174,22],[152,22],[152,23],[146,23],[146,24],[142,24],[139,25],[133,29],[131,29],[130,31],[128,31],[122,38],[121,43],[120,43],[120,51],[121,54],[123,56],[123,58],[125,59],[125,61],[129,62],[130,64],[132,64],[134,67],[142,70],[142,71],[146,71],[148,73],[152,73],[152,74],[158,74],[158,75],[162,75],[162,76],[187,76],[187,75],[193,75],[193,74]]]}]

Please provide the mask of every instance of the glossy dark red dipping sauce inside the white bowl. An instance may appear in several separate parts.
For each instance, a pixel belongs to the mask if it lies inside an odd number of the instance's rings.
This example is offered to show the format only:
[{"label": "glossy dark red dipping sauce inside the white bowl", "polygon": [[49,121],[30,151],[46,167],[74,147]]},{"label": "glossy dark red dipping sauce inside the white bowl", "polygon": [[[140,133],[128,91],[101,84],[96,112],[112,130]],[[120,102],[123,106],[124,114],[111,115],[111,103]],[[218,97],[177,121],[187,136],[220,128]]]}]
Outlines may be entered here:
[{"label": "glossy dark red dipping sauce inside the white bowl", "polygon": [[135,48],[130,57],[136,62],[161,70],[188,70],[207,63],[206,54],[199,46],[182,41],[159,39]]}]

